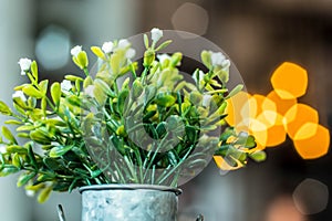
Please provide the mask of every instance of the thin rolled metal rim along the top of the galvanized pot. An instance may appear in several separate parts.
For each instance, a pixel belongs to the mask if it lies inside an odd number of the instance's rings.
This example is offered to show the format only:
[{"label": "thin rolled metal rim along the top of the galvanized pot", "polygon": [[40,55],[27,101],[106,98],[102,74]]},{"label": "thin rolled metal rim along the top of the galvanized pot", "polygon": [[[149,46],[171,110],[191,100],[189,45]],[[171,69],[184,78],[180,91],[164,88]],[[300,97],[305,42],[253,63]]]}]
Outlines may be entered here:
[{"label": "thin rolled metal rim along the top of the galvanized pot", "polygon": [[136,185],[136,183],[111,183],[111,185],[92,185],[79,188],[79,192],[83,193],[89,190],[158,190],[174,192],[176,196],[183,193],[183,190],[175,187],[159,185]]}]

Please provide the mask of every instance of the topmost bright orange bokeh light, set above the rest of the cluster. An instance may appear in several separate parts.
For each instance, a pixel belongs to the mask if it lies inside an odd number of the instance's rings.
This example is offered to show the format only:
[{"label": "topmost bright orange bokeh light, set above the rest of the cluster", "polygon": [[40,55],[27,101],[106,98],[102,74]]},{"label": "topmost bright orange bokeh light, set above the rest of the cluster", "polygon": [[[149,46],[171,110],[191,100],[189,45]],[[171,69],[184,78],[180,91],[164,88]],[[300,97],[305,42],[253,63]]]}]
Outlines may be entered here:
[{"label": "topmost bright orange bokeh light, set above the rest of the cluster", "polygon": [[293,99],[305,94],[307,71],[298,64],[284,62],[272,74],[272,86],[283,99]]}]

